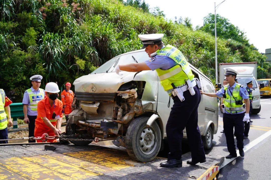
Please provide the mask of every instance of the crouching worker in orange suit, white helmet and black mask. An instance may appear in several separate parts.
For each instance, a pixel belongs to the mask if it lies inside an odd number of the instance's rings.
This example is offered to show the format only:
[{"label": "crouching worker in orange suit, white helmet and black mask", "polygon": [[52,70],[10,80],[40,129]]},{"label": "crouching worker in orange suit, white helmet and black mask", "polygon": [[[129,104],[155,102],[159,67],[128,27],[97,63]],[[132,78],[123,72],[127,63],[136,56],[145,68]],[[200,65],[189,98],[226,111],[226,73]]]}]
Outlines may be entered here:
[{"label": "crouching worker in orange suit, white helmet and black mask", "polygon": [[[59,91],[56,83],[50,82],[46,84],[46,97],[38,102],[35,137],[41,137],[44,133],[47,133],[49,136],[62,133],[60,128],[63,117],[63,103],[57,99]],[[37,142],[42,142],[42,140],[37,140]],[[47,142],[56,142],[56,139],[47,140]]]}]

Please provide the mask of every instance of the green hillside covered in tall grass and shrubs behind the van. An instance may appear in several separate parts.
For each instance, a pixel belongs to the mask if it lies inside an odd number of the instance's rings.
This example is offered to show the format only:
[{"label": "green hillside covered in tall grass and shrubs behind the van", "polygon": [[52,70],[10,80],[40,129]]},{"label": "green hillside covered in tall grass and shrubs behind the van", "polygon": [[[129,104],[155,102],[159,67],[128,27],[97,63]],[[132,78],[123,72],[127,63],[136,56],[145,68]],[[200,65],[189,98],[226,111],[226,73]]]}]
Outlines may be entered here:
[{"label": "green hillside covered in tall grass and shrubs behind the van", "polygon": [[[49,81],[63,88],[112,57],[140,49],[142,33],[164,33],[164,43],[178,47],[214,81],[214,36],[207,23],[193,30],[189,19],[166,21],[119,0],[5,0],[0,20],[0,87],[15,102],[33,74],[44,77],[43,88]],[[264,61],[248,41],[219,36],[218,63]],[[261,71],[270,77],[268,64],[258,68],[258,78]]]}]

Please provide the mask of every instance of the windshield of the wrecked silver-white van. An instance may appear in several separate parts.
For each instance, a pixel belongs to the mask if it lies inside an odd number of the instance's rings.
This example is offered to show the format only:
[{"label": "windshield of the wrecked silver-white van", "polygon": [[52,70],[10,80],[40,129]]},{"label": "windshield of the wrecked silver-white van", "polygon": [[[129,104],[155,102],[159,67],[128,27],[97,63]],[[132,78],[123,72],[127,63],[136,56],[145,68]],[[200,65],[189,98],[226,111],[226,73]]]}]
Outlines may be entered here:
[{"label": "windshield of the wrecked silver-white van", "polygon": [[150,59],[148,54],[145,51],[129,53],[126,55],[121,55],[114,57],[108,60],[106,63],[98,67],[94,70],[91,74],[98,74],[98,73],[109,73],[109,72],[116,72],[116,66],[118,64],[129,64],[129,63],[138,63],[144,62]]}]

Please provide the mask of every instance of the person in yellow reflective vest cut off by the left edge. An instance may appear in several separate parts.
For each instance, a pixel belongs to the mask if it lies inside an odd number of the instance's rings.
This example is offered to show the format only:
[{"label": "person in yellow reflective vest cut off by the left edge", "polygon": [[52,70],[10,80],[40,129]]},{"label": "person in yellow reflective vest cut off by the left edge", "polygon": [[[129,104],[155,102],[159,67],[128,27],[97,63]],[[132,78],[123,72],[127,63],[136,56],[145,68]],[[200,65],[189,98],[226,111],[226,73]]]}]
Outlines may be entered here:
[{"label": "person in yellow reflective vest cut off by the left edge", "polygon": [[[0,89],[0,139],[8,139],[8,127],[12,126],[10,107],[5,106],[5,91]],[[0,141],[0,144],[8,143]]]}]

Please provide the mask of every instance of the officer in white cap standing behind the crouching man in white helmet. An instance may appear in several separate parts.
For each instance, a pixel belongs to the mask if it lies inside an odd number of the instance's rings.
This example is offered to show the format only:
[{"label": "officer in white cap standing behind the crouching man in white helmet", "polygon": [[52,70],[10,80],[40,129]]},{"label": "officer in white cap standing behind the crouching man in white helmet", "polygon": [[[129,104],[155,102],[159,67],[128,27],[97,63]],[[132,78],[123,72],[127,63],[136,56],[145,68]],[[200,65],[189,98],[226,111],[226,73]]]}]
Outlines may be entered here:
[{"label": "officer in white cap standing behind the crouching man in white helmet", "polygon": [[[32,87],[24,92],[22,104],[24,105],[24,122],[28,124],[28,137],[34,136],[35,119],[37,118],[38,101],[45,96],[43,89],[39,88],[42,80],[41,75],[34,75],[30,77]],[[36,142],[36,140],[28,142]]]}]

